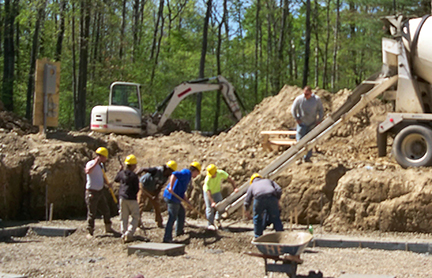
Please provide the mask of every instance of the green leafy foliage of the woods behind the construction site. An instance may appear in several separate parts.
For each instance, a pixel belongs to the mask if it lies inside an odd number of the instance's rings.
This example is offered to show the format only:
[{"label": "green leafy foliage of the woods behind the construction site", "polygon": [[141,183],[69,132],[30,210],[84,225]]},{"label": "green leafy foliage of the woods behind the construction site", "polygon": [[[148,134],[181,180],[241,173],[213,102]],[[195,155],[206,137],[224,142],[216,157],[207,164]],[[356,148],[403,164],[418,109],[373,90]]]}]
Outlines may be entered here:
[{"label": "green leafy foliage of the woods behind the construction site", "polygon": [[[60,2],[48,0],[40,33],[39,58],[55,57],[60,32]],[[65,33],[61,55],[60,115],[62,128],[72,129],[74,122],[73,48],[75,49],[75,74],[78,76],[80,4],[67,1]],[[16,18],[16,66],[14,101],[15,112],[24,115],[33,34],[37,9],[44,1],[21,0]],[[153,112],[172,89],[182,81],[198,76],[202,47],[205,6],[197,0],[167,1],[163,20],[155,32],[160,1],[145,2],[140,8],[138,22],[134,20],[135,1],[127,1],[124,37],[122,31],[123,0],[96,0],[91,3],[89,70],[87,84],[87,117],[95,105],[108,103],[109,85],[113,81],[130,81],[143,84],[144,112]],[[312,40],[309,83],[314,85],[315,67],[318,86],[329,89],[333,63],[334,30],[336,23],[335,0],[312,1]],[[228,28],[222,28],[221,71],[235,87],[246,109],[251,111],[263,98],[277,93],[284,84],[300,85],[302,82],[305,39],[305,6],[303,1],[288,1],[289,13],[281,43],[284,1],[261,0],[257,17],[256,0],[230,0],[228,3]],[[431,12],[430,1],[409,0],[351,0],[340,1],[340,27],[337,42],[337,73],[335,90],[354,88],[357,83],[381,67],[382,24],[380,17],[403,12],[406,16],[422,16]],[[396,6],[394,6],[396,3]],[[328,7],[328,5],[330,5]],[[74,6],[74,7],[73,7]],[[209,26],[206,58],[206,76],[218,74],[216,49],[218,28],[222,19],[223,0],[213,0],[213,19]],[[3,9],[3,5],[0,6]],[[329,9],[329,25],[327,25]],[[2,10],[0,24],[4,25]],[[75,20],[75,41],[72,40],[72,19]],[[257,24],[258,23],[258,24]],[[258,34],[258,42],[256,41]],[[155,37],[156,35],[156,37]],[[3,34],[2,34],[3,36]],[[155,42],[155,44],[154,44]],[[120,57],[120,48],[124,55]],[[315,49],[318,59],[315,60]],[[153,57],[151,53],[153,50]],[[0,48],[3,62],[3,45]],[[258,61],[256,61],[256,55]],[[318,61],[317,64],[316,61]],[[326,63],[326,64],[324,64]],[[324,69],[327,69],[325,84]],[[3,67],[0,68],[2,73]],[[75,80],[76,82],[77,80]],[[216,92],[203,94],[202,127],[212,130]],[[195,97],[180,103],[172,117],[195,119]],[[232,124],[228,109],[222,104],[220,126]]]}]

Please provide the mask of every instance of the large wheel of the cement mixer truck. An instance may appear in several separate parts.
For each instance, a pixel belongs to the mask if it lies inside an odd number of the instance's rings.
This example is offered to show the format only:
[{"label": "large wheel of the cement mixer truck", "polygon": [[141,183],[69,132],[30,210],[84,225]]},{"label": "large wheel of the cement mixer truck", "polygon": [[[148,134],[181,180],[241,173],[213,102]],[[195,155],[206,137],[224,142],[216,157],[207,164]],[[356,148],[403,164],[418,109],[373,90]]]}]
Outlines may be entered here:
[{"label": "large wheel of the cement mixer truck", "polygon": [[393,142],[393,155],[403,167],[432,164],[432,130],[422,125],[402,129]]}]

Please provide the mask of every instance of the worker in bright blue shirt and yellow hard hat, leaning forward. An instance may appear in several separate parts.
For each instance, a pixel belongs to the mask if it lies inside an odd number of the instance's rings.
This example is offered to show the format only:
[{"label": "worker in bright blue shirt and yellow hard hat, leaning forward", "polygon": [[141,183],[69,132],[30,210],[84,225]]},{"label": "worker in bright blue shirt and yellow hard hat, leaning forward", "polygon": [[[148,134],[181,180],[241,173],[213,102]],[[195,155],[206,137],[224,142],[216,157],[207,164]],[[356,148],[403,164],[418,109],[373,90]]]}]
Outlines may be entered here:
[{"label": "worker in bright blue shirt and yellow hard hat, leaning forward", "polygon": [[196,178],[201,172],[201,164],[194,161],[188,169],[175,171],[169,178],[169,184],[164,191],[164,200],[168,207],[168,221],[165,226],[163,242],[172,242],[172,230],[174,222],[177,221],[176,236],[184,234],[184,222],[186,212],[181,204],[181,199],[188,202],[185,193],[190,181]]}]

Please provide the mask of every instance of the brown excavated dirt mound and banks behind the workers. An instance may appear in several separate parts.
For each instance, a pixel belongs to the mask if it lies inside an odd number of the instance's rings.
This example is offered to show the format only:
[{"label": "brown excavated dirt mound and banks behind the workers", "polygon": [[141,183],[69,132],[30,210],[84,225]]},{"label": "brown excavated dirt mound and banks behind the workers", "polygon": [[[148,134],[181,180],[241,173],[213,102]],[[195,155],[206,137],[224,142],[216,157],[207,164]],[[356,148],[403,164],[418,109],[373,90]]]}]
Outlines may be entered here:
[{"label": "brown excavated dirt mound and banks behind the workers", "polygon": [[[265,151],[260,132],[295,128],[291,105],[301,93],[298,87],[285,86],[278,95],[264,99],[230,131],[213,137],[190,133],[182,123],[174,123],[166,133],[169,136],[144,138],[85,132],[52,134],[48,139],[13,132],[0,134],[0,182],[6,185],[0,188],[1,196],[5,196],[0,211],[6,211],[6,216],[0,218],[43,218],[46,192],[49,202],[54,203],[54,217],[84,216],[83,168],[99,146],[109,149],[106,166],[110,179],[119,169],[116,156],[123,160],[134,154],[139,167],[163,165],[171,159],[178,162],[180,169],[192,161],[199,161],[204,169],[215,164],[227,171],[238,186],[243,185],[282,153],[282,149]],[[326,115],[334,112],[349,93],[343,90],[333,95],[317,90]],[[429,170],[404,170],[390,155],[377,158],[376,125],[391,109],[391,104],[374,100],[316,147],[313,163],[291,165],[274,177],[283,188],[284,221],[297,211],[300,223],[324,223],[332,230],[426,231],[432,221],[432,197],[428,179],[419,183],[421,187],[414,177],[416,173],[428,174]],[[202,212],[205,174],[203,171],[194,180],[188,192],[192,204]],[[412,183],[415,186],[406,186]],[[387,188],[380,190],[383,195],[379,199],[377,188]],[[232,191],[229,183],[223,184],[224,196]],[[162,207],[165,209],[164,204]],[[189,216],[197,217],[191,212]]]}]

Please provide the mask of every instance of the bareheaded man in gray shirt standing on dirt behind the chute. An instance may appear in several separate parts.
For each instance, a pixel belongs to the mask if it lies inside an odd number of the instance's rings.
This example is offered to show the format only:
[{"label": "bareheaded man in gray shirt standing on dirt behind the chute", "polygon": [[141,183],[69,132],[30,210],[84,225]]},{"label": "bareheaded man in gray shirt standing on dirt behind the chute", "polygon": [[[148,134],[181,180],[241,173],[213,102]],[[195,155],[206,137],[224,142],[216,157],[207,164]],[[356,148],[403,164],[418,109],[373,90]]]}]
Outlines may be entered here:
[{"label": "bareheaded man in gray shirt standing on dirt behind the chute", "polygon": [[[291,107],[291,113],[297,121],[296,140],[300,141],[324,117],[324,108],[319,96],[312,93],[310,86],[303,88],[303,94],[296,97]],[[303,157],[304,162],[311,162],[312,150]]]}]

